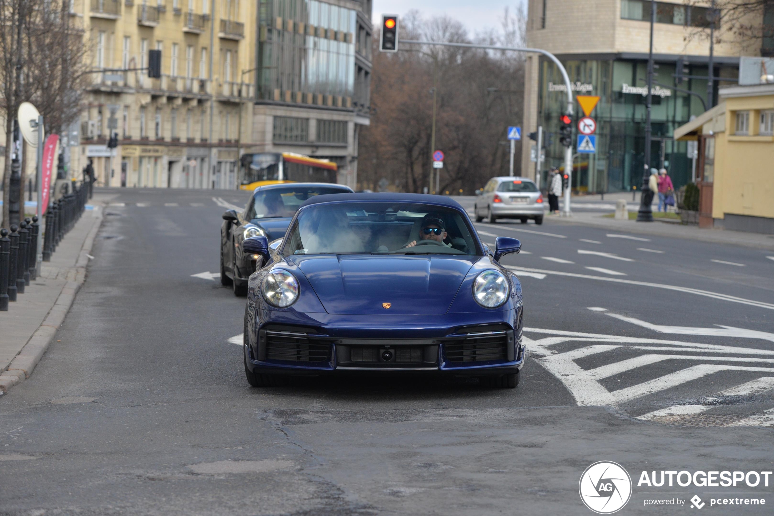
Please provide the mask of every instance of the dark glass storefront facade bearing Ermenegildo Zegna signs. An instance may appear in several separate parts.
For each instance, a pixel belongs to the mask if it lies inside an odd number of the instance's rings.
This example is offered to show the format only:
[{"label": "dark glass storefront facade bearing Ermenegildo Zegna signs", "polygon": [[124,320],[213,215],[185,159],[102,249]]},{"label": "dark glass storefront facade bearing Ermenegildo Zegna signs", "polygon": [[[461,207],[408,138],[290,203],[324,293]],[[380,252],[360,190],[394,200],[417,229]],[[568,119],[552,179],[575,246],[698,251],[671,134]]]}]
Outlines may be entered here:
[{"label": "dark glass storefront facade bearing Ermenegildo Zegna signs", "polygon": [[[679,188],[694,177],[694,156],[687,142],[675,142],[675,128],[704,112],[707,80],[675,75],[707,77],[707,64],[669,56],[657,61],[652,88],[652,143],[645,149],[647,61],[641,56],[574,56],[562,59],[574,95],[598,95],[591,113],[597,122],[596,152],[574,159],[573,188],[601,193],[639,190],[646,152],[654,166],[665,167]],[[705,58],[706,59],[706,58]],[[733,60],[718,59],[715,77],[737,76]],[[737,60],[738,63],[738,60]],[[723,86],[724,82],[720,82]],[[728,83],[731,84],[731,83]],[[680,88],[679,91],[673,88]],[[717,91],[717,87],[715,88]],[[694,94],[689,94],[690,91]],[[717,98],[717,94],[714,95]],[[577,120],[584,116],[576,103],[573,148],[577,150]],[[564,148],[559,142],[560,115],[567,106],[567,88],[557,67],[548,60],[539,63],[538,125],[546,132],[546,162],[543,169],[563,169]],[[543,181],[546,175],[543,174]]]}]

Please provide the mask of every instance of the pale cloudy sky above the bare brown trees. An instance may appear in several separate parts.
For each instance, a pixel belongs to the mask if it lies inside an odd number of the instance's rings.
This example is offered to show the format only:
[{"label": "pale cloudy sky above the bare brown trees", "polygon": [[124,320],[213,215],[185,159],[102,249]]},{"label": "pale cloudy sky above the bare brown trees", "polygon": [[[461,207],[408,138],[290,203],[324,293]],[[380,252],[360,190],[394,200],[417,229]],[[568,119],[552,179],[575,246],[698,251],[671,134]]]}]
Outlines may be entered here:
[{"label": "pale cloudy sky above the bare brown trees", "polygon": [[506,6],[525,3],[525,0],[374,0],[374,26],[381,23],[383,12],[405,15],[416,9],[425,16],[446,14],[456,18],[467,26],[472,36],[475,31],[499,27]]}]

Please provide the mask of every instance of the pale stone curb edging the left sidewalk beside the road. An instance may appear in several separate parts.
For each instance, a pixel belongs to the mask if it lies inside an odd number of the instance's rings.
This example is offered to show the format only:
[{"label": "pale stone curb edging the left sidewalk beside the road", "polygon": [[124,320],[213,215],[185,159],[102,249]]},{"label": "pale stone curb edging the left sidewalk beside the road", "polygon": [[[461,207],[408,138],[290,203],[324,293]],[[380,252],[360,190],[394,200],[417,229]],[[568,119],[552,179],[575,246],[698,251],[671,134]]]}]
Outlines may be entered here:
[{"label": "pale stone curb edging the left sidewalk beside the road", "polygon": [[8,369],[0,374],[0,394],[5,394],[15,384],[20,384],[29,378],[33,374],[35,366],[43,358],[43,354],[46,353],[53,337],[57,334],[57,330],[64,322],[64,317],[70,311],[70,306],[72,306],[75,300],[75,295],[80,289],[80,285],[83,285],[84,281],[86,281],[87,255],[94,246],[94,239],[102,226],[102,220],[102,210],[99,210],[97,220],[86,235],[86,240],[84,240],[84,244],[80,248],[75,266],[67,272],[68,281],[62,287],[59,296],[57,296],[57,301],[54,302],[49,313],[46,314],[43,323],[40,323],[33,336],[29,337],[29,340],[19,351],[19,354],[11,361]]}]

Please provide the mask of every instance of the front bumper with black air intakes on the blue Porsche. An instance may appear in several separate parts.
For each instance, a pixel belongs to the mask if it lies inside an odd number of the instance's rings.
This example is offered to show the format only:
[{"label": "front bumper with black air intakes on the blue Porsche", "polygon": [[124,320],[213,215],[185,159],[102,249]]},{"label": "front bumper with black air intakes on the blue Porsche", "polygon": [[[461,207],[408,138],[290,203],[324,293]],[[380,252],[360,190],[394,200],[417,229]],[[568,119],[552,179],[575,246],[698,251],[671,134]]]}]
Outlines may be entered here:
[{"label": "front bumper with black air intakes on the blue Porsche", "polygon": [[[521,308],[444,316],[330,316],[248,307],[245,361],[262,374],[518,372],[525,360]],[[255,314],[257,315],[257,314]],[[433,320],[428,324],[428,320]]]}]

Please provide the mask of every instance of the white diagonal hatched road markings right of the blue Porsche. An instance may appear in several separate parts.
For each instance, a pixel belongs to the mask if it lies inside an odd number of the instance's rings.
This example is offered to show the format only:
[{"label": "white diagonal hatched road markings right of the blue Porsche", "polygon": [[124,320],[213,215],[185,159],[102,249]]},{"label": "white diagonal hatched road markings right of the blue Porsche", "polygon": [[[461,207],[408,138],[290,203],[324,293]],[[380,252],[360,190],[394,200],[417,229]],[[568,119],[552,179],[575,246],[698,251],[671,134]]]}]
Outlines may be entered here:
[{"label": "white diagonal hatched road markings right of the blue Porsche", "polygon": [[731,326],[669,332],[668,326],[633,321],[661,333],[720,336],[728,343],[532,327],[524,329],[524,340],[529,356],[559,379],[578,405],[609,406],[671,425],[774,427],[774,350],[729,344],[731,338],[771,341],[774,334]]}]

